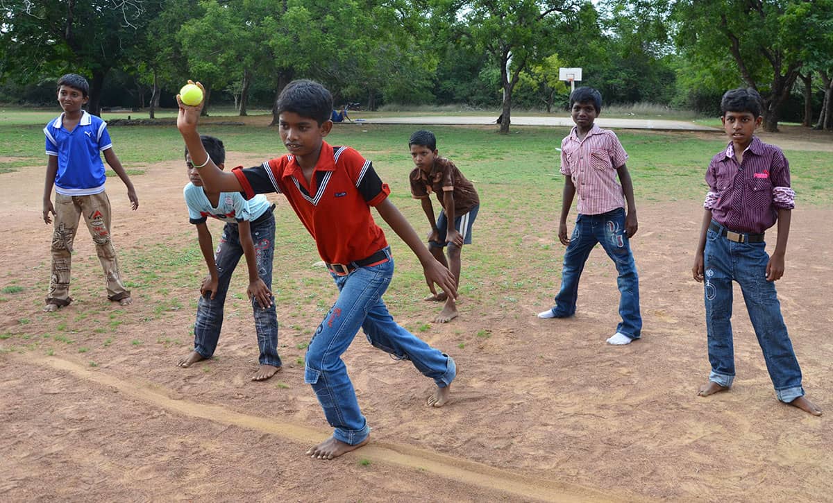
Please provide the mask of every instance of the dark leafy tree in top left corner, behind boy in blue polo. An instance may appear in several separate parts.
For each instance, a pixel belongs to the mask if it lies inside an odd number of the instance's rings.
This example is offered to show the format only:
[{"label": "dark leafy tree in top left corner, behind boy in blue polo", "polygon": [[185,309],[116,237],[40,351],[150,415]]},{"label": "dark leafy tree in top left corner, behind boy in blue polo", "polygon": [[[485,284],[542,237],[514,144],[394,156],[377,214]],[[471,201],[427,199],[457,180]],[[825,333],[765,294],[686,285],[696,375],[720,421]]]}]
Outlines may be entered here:
[{"label": "dark leafy tree in top left corner, behind boy in blue polo", "polygon": [[163,0],[2,0],[2,75],[22,82],[52,74],[90,76],[89,112],[101,113],[104,78],[136,57],[142,31]]}]

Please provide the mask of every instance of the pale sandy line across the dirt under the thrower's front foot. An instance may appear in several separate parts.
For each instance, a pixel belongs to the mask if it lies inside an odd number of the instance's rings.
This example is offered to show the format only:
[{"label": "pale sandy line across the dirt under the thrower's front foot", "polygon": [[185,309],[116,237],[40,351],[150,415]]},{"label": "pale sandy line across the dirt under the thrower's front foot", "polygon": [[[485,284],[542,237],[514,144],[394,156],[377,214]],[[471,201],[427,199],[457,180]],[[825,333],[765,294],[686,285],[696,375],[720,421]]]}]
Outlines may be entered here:
[{"label": "pale sandy line across the dirt under the thrower's front foot", "polygon": [[[264,417],[251,416],[230,411],[223,406],[197,403],[175,399],[162,386],[155,383],[144,384],[132,380],[120,379],[105,371],[91,371],[81,364],[49,356],[43,358],[33,355],[16,355],[16,359],[37,366],[51,366],[65,371],[85,381],[92,381],[101,386],[109,386],[138,401],[158,406],[167,411],[177,412],[182,416],[197,417],[215,423],[238,426],[248,430],[263,431],[289,441],[313,444],[325,440],[327,432],[314,430],[305,426],[274,421]],[[426,471],[435,476],[477,486],[490,491],[510,493],[540,501],[625,501],[627,496],[611,496],[596,489],[576,484],[541,480],[531,476],[521,476],[511,471],[501,470],[476,461],[468,461],[454,456],[426,451],[412,446],[392,442],[371,441],[362,447],[362,458],[382,461],[404,466],[412,470]],[[356,452],[345,456],[356,456]],[[327,461],[322,461],[327,462]],[[631,496],[632,497],[632,496]]]}]

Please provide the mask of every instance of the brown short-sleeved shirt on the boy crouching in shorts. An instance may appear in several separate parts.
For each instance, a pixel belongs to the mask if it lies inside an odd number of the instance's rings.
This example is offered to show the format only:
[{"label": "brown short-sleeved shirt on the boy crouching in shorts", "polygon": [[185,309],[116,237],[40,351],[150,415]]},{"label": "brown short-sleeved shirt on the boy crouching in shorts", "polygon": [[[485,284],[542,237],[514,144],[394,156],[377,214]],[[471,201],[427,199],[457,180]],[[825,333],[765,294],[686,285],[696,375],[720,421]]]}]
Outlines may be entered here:
[{"label": "brown short-sleeved shirt on the boy crouching in shorts", "polygon": [[431,172],[423,172],[416,167],[409,176],[411,179],[411,194],[414,199],[425,199],[431,197],[431,192],[436,193],[436,199],[440,206],[445,209],[443,194],[454,192],[454,217],[460,217],[471,211],[471,208],[480,204],[480,197],[474,185],[454,166],[454,163],[445,157],[436,157]]}]

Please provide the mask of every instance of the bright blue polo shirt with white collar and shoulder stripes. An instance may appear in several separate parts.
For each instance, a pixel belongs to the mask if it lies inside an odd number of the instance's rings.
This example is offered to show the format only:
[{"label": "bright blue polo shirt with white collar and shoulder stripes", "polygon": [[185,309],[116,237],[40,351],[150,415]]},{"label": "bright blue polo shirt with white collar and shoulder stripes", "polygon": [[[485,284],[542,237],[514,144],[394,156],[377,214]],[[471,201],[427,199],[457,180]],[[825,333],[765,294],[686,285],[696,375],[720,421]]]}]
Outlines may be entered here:
[{"label": "bright blue polo shirt with white collar and shoulder stripes", "polygon": [[64,196],[91,196],[104,192],[101,152],[112,148],[107,122],[82,111],[72,132],[63,127],[63,114],[43,128],[47,156],[57,157],[55,192]]}]

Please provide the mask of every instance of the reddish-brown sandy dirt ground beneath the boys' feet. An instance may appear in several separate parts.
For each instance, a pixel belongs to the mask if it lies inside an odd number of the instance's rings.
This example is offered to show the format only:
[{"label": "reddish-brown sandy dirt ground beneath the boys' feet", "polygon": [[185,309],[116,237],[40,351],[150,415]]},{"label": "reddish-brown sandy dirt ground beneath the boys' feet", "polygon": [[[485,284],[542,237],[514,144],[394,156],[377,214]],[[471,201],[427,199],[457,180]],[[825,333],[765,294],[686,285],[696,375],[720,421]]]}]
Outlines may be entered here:
[{"label": "reddish-brown sandy dirt ground beneath the boys' feet", "polygon": [[[138,266],[129,250],[192,236],[174,214],[184,211],[184,175],[170,166],[147,166],[134,177],[138,212],[127,211],[117,180],[108,183],[128,281]],[[257,351],[245,301],[227,311],[216,359],[177,368],[192,341],[202,259],[188,266],[185,281],[135,293],[135,304],[122,311],[106,300],[82,229],[72,270],[76,301],[44,314],[52,227],[41,218],[42,168],[0,182],[0,286],[24,286],[0,303],[2,501],[829,501],[833,494],[831,209],[794,212],[778,283],[805,389],[824,416],[776,401],[738,289],[736,384],[718,396],[696,396],[709,371],[702,287],[691,279],[700,202],[644,202],[632,242],[640,341],[605,344],[618,292],[598,247],[576,316],[536,318],[551,305],[561,269],[542,246],[560,245],[556,228],[546,229],[547,238],[530,229],[506,253],[517,264],[513,277],[540,278],[533,287],[506,302],[463,298],[459,319],[421,332],[456,359],[451,403],[424,406],[431,382],[359,335],[345,361],[372,442],[335,461],[313,461],[303,451],[330,430],[303,384],[303,351],[294,343],[317,326],[321,299],[297,292],[309,308],[297,326],[287,322],[297,304],[278,305],[285,366],[270,381],[249,381]],[[277,201],[277,212],[290,211]],[[487,219],[478,226],[478,246],[500,241],[490,237]],[[401,243],[395,249],[400,263],[415,262]],[[541,261],[545,271],[536,268]],[[307,266],[290,273],[329,281]],[[243,276],[238,271],[236,281]],[[289,279],[279,272],[276,285],[282,281]],[[392,307],[409,326],[436,311],[418,304],[425,293],[418,281],[412,290],[415,307],[403,316]],[[329,292],[326,304],[335,289]],[[182,299],[182,307],[159,313],[162,297]],[[71,342],[58,342],[59,335]]]}]

